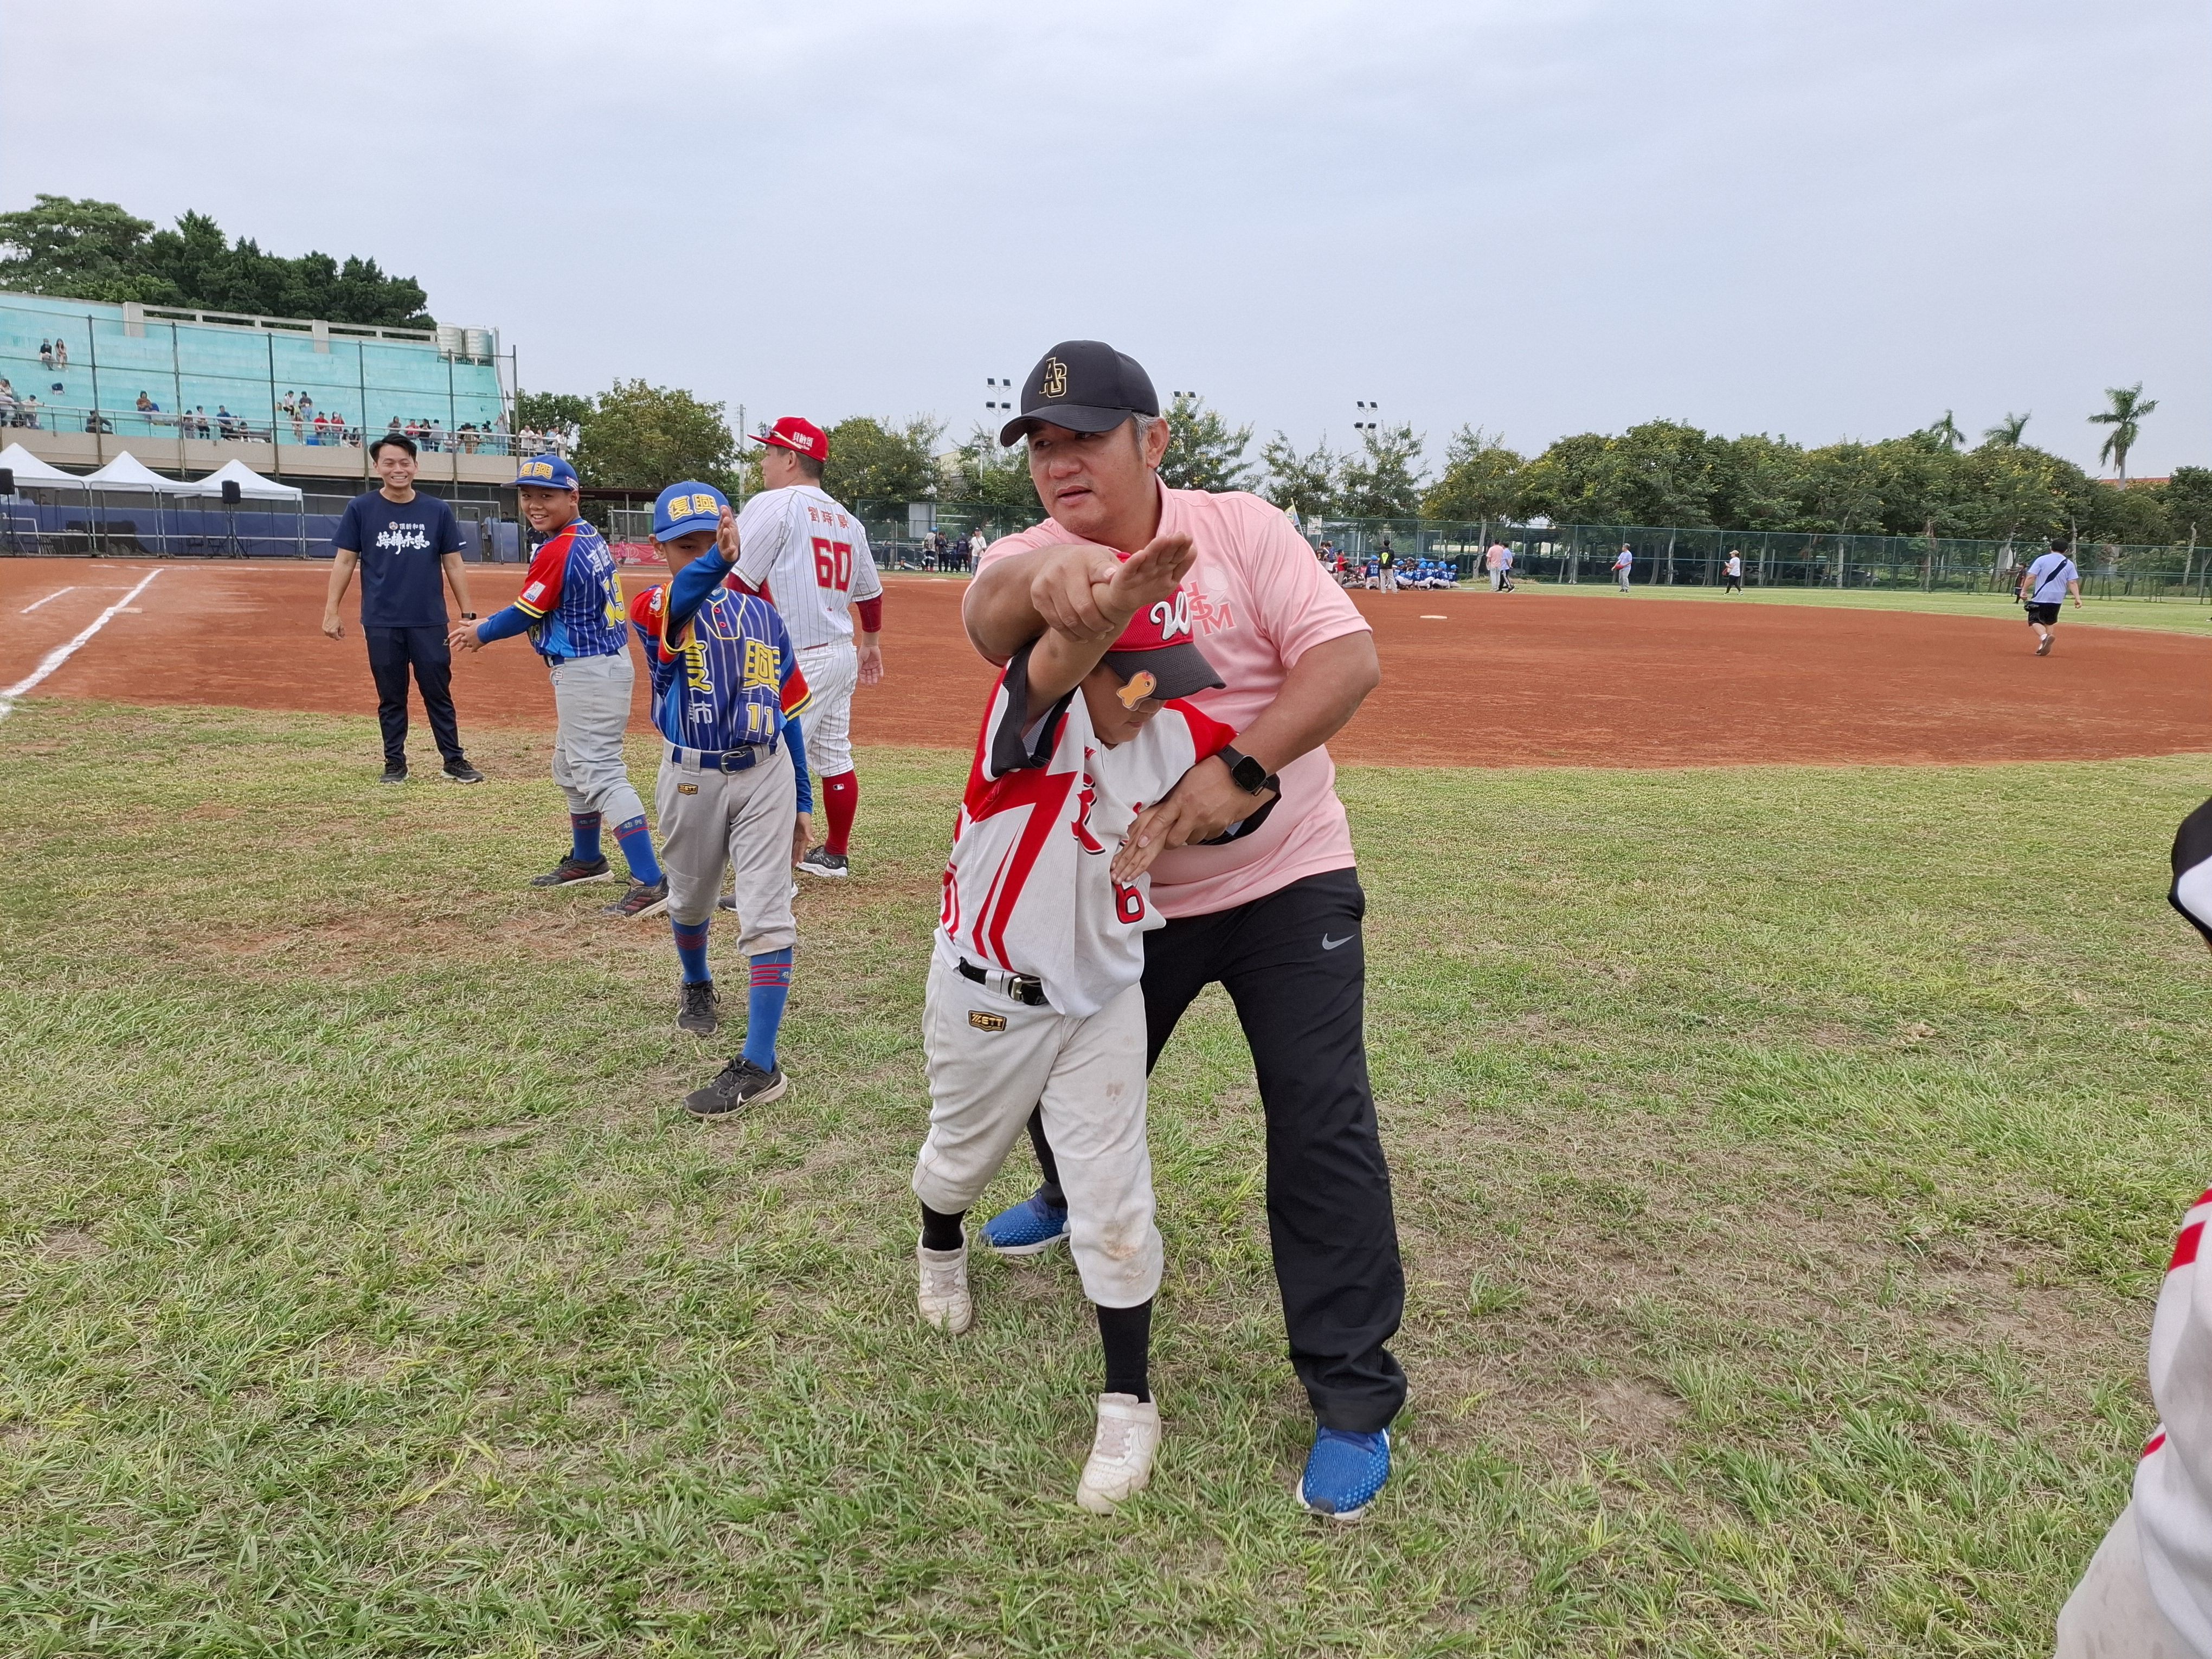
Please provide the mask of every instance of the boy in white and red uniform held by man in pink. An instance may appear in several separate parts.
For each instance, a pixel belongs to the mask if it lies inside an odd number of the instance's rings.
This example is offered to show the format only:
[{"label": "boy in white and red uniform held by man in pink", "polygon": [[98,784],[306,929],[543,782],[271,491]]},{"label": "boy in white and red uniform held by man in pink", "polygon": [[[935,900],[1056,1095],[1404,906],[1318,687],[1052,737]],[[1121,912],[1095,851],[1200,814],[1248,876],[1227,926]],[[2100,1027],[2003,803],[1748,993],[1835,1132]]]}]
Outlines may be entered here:
[{"label": "boy in white and red uniform held by man in pink", "polygon": [[1164,535],[1093,588],[1119,637],[1046,630],[991,692],[953,825],[922,1046],[929,1137],[920,1314],[964,1332],[975,1307],[960,1219],[1031,1108],[1060,1157],[1068,1248],[1097,1305],[1106,1391],[1075,1502],[1139,1491],[1159,1447],[1146,1378],[1161,1245],[1144,1144],[1144,933],[1150,856],[1121,845],[1234,732],[1177,699],[1221,686],[1190,633],[1190,538]]}]

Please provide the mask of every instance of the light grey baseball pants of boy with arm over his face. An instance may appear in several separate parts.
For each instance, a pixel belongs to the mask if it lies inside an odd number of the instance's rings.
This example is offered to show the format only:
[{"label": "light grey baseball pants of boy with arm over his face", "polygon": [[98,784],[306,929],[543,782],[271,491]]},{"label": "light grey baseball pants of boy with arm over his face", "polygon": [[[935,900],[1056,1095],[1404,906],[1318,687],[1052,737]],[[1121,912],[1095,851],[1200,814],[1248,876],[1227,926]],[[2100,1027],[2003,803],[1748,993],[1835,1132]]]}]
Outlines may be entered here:
[{"label": "light grey baseball pants of boy with arm over his face", "polygon": [[799,942],[792,920],[792,825],[799,794],[792,752],[776,752],[745,772],[699,765],[697,750],[675,759],[661,750],[653,792],[659,812],[661,869],[668,872],[668,918],[684,927],[712,920],[723,869],[737,872],[737,938],[745,956]]}]

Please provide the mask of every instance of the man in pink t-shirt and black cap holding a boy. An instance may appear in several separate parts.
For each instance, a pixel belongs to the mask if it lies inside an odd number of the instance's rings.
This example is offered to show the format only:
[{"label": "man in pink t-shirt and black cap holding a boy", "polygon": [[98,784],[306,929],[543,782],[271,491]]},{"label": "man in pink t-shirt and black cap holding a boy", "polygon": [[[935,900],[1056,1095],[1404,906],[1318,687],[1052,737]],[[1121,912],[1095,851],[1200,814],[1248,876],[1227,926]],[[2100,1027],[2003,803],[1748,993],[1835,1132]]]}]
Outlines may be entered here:
[{"label": "man in pink t-shirt and black cap holding a boy", "polygon": [[[1022,385],[1000,442],[1029,440],[1051,518],[984,551],[962,617],[1006,661],[1046,626],[1099,633],[1093,582],[1155,535],[1188,535],[1190,630],[1228,681],[1190,701],[1237,737],[1148,807],[1128,847],[1152,854],[1146,933],[1148,1057],[1219,980],[1237,1004],[1267,1117],[1267,1234],[1290,1358],[1318,1433],[1298,1500],[1352,1520],[1389,1475],[1405,1371],[1385,1343],[1405,1310],[1389,1168],[1367,1086],[1352,830],[1323,748],[1383,677],[1374,633],[1314,551],[1259,495],[1166,489],[1168,425],[1135,358],[1062,341]],[[1051,1148],[1044,1186],[991,1217],[984,1239],[1029,1254],[1066,1237]]]}]

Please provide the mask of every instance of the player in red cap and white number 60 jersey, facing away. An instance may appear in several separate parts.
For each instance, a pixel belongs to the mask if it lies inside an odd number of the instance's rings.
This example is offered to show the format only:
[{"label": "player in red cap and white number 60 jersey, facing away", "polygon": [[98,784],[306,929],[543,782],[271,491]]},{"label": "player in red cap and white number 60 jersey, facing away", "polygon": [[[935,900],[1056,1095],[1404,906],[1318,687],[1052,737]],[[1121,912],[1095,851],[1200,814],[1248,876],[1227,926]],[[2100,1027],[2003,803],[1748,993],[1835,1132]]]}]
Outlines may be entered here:
[{"label": "player in red cap and white number 60 jersey, facing away", "polygon": [[[883,580],[867,551],[867,531],[821,487],[830,438],[812,420],[785,416],[761,449],[765,489],[737,515],[737,580],[783,615],[799,648],[814,703],[801,717],[814,796],[827,834],[807,849],[799,869],[810,876],[849,876],[852,821],[860,805],[860,776],[852,768],[852,692],[883,679]],[[860,613],[854,644],[852,613]]]}]

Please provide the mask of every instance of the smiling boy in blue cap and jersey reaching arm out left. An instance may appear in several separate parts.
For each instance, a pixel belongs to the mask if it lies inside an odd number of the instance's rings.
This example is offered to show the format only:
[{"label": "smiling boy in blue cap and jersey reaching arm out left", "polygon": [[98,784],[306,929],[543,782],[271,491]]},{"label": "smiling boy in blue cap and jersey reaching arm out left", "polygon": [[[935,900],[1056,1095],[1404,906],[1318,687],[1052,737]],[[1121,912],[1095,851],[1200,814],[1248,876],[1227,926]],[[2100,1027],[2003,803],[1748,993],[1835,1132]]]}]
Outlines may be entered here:
[{"label": "smiling boy in blue cap and jersey reaching arm out left", "polygon": [[515,478],[522,518],[549,540],[522,577],[522,593],[504,611],[453,628],[451,644],[482,650],[493,639],[526,633],[553,677],[553,781],[568,796],[568,856],[531,887],[566,887],[606,880],[599,825],[615,821],[615,841],[630,865],[630,891],[604,909],[606,916],[659,916],[668,907],[668,883],[653,856],[646,803],[637,799],[630,768],[622,759],[622,734],[630,723],[630,637],[622,622],[622,584],[615,555],[577,515],[575,467],[560,456],[522,462]]}]

